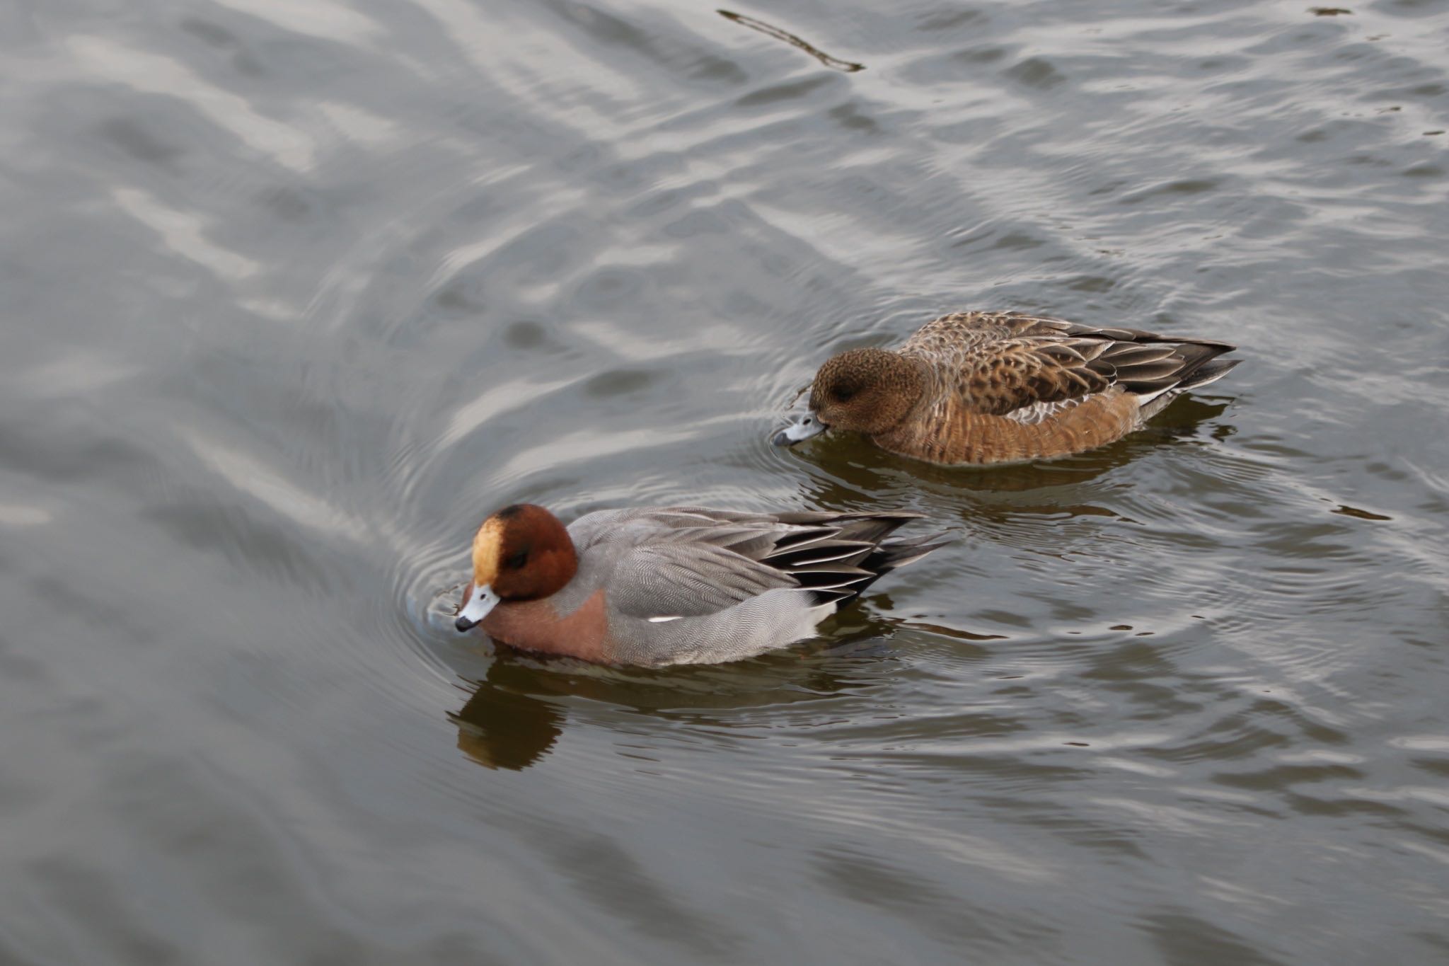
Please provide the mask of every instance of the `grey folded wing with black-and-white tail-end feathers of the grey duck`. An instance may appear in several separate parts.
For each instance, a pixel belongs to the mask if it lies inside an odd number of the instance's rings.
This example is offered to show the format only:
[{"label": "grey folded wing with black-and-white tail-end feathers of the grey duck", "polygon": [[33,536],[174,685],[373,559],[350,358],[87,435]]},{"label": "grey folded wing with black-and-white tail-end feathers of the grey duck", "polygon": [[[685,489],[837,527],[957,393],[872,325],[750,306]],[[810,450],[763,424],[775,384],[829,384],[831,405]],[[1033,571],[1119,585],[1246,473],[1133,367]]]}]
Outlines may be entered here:
[{"label": "grey folded wing with black-and-white tail-end feathers of the grey duck", "polygon": [[[651,620],[713,614],[774,588],[811,604],[855,597],[930,553],[935,537],[887,539],[914,513],[745,514],[669,507],[632,511],[609,579],[620,613]],[[642,530],[652,530],[645,539]],[[613,537],[610,539],[613,542]]]}]

